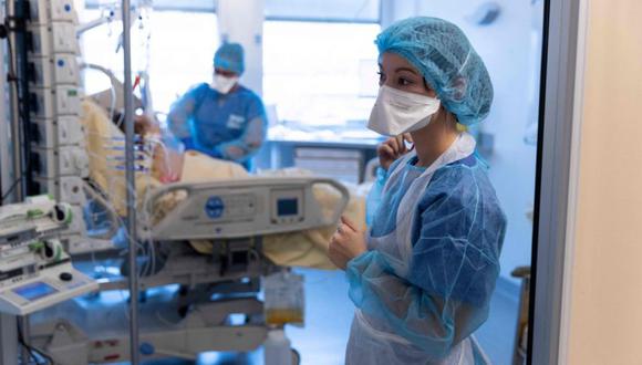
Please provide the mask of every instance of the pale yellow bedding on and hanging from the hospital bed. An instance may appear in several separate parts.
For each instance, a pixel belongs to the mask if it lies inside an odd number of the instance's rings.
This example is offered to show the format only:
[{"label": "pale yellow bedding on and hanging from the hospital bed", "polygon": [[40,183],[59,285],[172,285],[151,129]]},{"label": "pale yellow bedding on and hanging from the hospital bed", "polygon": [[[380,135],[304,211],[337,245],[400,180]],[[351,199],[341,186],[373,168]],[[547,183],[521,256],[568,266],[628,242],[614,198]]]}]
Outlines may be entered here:
[{"label": "pale yellow bedding on and hanging from the hospital bed", "polygon": [[[108,196],[115,211],[124,216],[125,179],[124,171],[114,161],[122,156],[123,133],[107,118],[106,113],[96,104],[83,102],[83,124],[86,133],[86,148],[90,156],[90,177]],[[148,140],[159,140],[158,129],[153,126],[141,128]],[[215,159],[194,150],[179,152],[163,144],[152,146],[141,156],[142,171],[136,173],[136,192],[138,207],[146,195],[154,188],[167,182],[205,182],[246,178],[250,176],[242,166]],[[269,171],[268,175],[310,175],[302,170]],[[365,187],[348,186],[351,197],[344,211],[350,219],[365,227]],[[315,187],[314,196],[323,211],[332,211],[340,196],[331,188]],[[164,201],[159,209],[172,209],[180,197]],[[279,265],[308,267],[318,269],[334,269],[325,255],[328,243],[335,230],[334,226],[296,233],[271,234],[263,237],[263,254]],[[211,242],[193,241],[195,250],[200,253],[211,252]]]}]

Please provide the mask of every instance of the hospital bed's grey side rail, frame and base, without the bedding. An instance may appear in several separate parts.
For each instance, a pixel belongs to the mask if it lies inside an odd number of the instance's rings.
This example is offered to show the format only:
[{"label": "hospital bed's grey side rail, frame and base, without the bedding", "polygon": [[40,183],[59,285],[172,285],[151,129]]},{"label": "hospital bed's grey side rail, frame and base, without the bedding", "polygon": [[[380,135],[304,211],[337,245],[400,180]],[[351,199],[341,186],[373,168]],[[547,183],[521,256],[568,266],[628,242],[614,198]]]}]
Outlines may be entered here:
[{"label": "hospital bed's grey side rail, frame and base, without the bedding", "polygon": [[[333,211],[324,212],[317,204],[318,185],[339,194]],[[170,209],[168,197],[173,197]],[[263,304],[258,299],[261,278],[287,270],[262,254],[262,240],[333,225],[348,200],[349,191],[341,184],[312,177],[173,184],[155,190],[142,211],[152,216],[146,221],[154,223],[143,227],[141,233],[143,240],[158,243],[164,263],[139,282],[143,290],[179,284],[178,295],[162,306],[174,307],[180,320],[172,328],[154,323],[146,326],[153,321],[142,320],[143,358],[195,359],[206,351],[248,352],[259,347],[271,328],[266,325]],[[194,249],[189,240],[207,240],[210,253]],[[101,290],[125,288],[125,280],[101,282]],[[142,314],[145,316],[145,311]],[[244,324],[229,324],[232,314],[244,315]],[[58,320],[33,326],[31,338],[33,346],[60,364],[127,359],[128,334],[105,331],[110,332],[116,334],[90,336],[70,320]]]}]

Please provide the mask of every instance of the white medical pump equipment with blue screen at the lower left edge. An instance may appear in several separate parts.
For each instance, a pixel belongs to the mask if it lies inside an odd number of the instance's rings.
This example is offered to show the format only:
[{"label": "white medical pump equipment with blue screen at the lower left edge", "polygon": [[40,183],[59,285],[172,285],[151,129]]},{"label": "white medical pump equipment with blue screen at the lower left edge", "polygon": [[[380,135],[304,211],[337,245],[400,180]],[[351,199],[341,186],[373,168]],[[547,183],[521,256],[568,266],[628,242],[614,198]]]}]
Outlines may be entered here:
[{"label": "white medical pump equipment with blue screen at the lower left edge", "polygon": [[97,290],[60,240],[74,219],[49,196],[0,207],[0,312],[25,315]]}]

